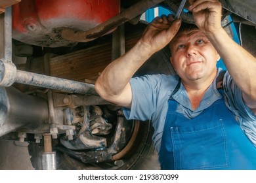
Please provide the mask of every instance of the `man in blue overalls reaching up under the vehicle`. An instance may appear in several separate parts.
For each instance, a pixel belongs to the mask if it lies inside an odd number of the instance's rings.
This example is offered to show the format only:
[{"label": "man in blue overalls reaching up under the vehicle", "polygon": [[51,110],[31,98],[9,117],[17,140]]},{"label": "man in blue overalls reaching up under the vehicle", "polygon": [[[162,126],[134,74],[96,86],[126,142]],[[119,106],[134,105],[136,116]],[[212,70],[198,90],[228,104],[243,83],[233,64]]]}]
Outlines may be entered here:
[{"label": "man in blue overalls reaching up under the vehicle", "polygon": [[[127,118],[152,120],[161,169],[256,169],[256,60],[221,27],[219,1],[190,4],[198,28],[178,32],[181,20],[155,18],[96,91]],[[169,42],[177,76],[132,78]],[[226,73],[216,68],[220,58]]]}]

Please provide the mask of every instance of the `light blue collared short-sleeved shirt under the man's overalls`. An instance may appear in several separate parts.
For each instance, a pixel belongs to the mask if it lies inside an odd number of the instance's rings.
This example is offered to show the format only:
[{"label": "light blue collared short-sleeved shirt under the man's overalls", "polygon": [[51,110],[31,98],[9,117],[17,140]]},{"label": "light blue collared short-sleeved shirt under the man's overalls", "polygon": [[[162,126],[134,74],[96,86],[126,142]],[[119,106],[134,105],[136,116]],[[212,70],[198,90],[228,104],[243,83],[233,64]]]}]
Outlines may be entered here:
[{"label": "light blue collared short-sleeved shirt under the man's overalls", "polygon": [[[222,69],[218,69],[217,76]],[[127,120],[151,120],[154,127],[153,141],[156,151],[160,151],[161,137],[168,109],[168,99],[179,82],[175,75],[145,75],[130,80],[133,97],[131,108],[123,108]],[[226,106],[237,117],[240,126],[249,140],[256,146],[256,115],[244,104],[242,91],[234,84],[228,72],[223,78],[223,92],[226,97]],[[173,99],[179,103],[177,112],[186,118],[194,118],[205,108],[209,107],[222,95],[217,91],[216,80],[209,86],[200,105],[192,110],[188,93],[181,83]]]}]

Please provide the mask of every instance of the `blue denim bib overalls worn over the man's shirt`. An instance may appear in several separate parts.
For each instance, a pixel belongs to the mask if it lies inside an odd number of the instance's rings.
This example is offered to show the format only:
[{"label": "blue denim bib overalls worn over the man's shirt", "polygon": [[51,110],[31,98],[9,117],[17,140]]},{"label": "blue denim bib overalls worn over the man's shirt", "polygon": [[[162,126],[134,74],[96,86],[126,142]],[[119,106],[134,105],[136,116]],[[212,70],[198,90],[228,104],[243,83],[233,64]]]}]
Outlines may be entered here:
[{"label": "blue denim bib overalls worn over the man's shirt", "polygon": [[172,96],[168,103],[161,169],[256,169],[256,148],[223,97],[192,119],[176,112],[178,103]]}]

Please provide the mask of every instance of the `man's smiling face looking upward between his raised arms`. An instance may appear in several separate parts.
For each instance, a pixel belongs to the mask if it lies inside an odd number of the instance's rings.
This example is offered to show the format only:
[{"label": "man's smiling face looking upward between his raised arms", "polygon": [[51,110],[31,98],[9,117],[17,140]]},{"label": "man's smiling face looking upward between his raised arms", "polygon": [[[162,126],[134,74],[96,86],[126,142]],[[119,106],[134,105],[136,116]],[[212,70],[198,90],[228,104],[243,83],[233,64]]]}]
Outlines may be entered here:
[{"label": "man's smiling face looking upward between his raised arms", "polygon": [[170,46],[171,63],[184,82],[215,77],[220,56],[202,31],[179,33]]}]

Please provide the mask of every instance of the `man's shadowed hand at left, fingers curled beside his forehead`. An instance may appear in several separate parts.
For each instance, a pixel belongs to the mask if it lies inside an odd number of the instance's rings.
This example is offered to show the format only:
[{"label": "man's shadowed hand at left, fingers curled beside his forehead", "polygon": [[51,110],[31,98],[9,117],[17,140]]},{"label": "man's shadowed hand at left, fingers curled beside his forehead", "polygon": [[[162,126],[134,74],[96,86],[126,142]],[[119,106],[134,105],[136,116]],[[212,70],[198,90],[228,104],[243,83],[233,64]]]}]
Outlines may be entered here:
[{"label": "man's shadowed hand at left, fingers curled beside his forehead", "polygon": [[158,16],[146,27],[140,41],[148,51],[158,52],[173,39],[180,26],[181,20],[175,20],[171,14]]}]

